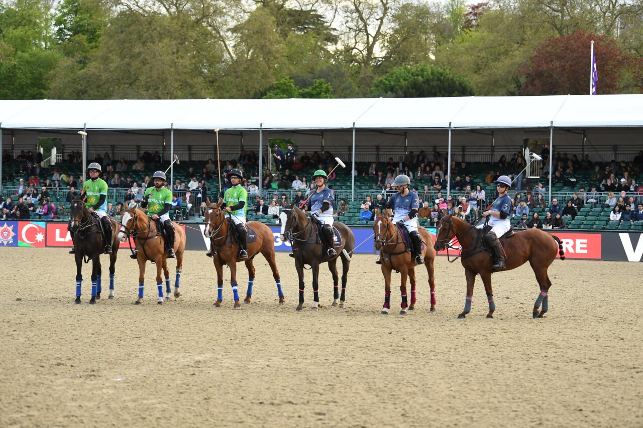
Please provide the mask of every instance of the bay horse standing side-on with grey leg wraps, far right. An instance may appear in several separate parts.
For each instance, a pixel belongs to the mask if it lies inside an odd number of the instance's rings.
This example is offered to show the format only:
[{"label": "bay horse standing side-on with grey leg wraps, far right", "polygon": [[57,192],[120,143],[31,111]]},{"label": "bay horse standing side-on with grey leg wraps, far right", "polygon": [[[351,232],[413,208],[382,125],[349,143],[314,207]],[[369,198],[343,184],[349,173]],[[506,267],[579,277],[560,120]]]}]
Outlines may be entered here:
[{"label": "bay horse standing side-on with grey leg wraps, far right", "polygon": [[[489,303],[487,318],[493,318],[493,312],[496,310],[493,290],[491,289],[491,273],[494,272],[493,256],[482,245],[484,229],[478,229],[452,215],[446,215],[440,219],[433,247],[437,251],[444,251],[445,248],[455,248],[449,244],[454,236],[458,239],[462,248],[460,262],[464,267],[464,274],[467,278],[467,295],[464,310],[458,315],[458,318],[464,318],[471,312],[473,284],[476,280],[476,274],[480,274],[487,292],[487,301]],[[549,288],[552,286],[547,269],[556,259],[556,254],[560,255],[561,260],[565,260],[561,240],[557,236],[550,235],[541,229],[527,229],[516,232],[507,238],[502,238],[502,241],[503,251],[506,254],[507,271],[516,269],[516,267],[526,262],[531,265],[536,275],[536,281],[540,286],[532,317],[542,318],[549,308],[548,294]],[[543,307],[542,310],[539,310],[541,303]]]}]

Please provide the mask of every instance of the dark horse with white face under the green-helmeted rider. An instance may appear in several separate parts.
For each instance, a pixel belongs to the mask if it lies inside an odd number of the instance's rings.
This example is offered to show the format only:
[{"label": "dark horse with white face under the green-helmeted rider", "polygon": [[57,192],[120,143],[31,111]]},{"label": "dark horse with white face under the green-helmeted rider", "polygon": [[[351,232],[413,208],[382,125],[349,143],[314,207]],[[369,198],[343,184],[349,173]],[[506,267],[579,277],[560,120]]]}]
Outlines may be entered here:
[{"label": "dark horse with white face under the green-helmeted rider", "polygon": [[[294,266],[299,276],[299,304],[296,310],[303,308],[303,269],[304,265],[310,265],[312,269],[312,296],[311,310],[319,307],[319,271],[320,263],[328,262],[328,269],[332,274],[333,300],[332,306],[343,308],[346,302],[346,282],[349,274],[350,256],[355,246],[355,236],[352,231],[343,223],[333,222],[341,235],[341,245],[334,247],[337,256],[329,256],[324,251],[324,246],[319,242],[318,232],[313,221],[306,217],[305,213],[294,204],[284,208],[280,214],[282,223],[281,237],[285,240],[287,236],[293,247]],[[323,238],[322,238],[323,239]],[[339,278],[337,274],[337,259],[341,257],[341,297],[338,292]],[[339,299],[339,300],[338,300]]]}]

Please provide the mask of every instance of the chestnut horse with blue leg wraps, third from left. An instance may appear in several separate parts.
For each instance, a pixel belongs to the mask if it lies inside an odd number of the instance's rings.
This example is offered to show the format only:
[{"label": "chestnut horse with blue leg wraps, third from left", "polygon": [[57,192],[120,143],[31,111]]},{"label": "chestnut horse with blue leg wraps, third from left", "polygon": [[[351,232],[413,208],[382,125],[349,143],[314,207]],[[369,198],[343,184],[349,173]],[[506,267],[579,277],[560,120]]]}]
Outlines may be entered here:
[{"label": "chestnut horse with blue leg wraps, third from left", "polygon": [[[224,211],[221,209],[221,204],[210,204],[205,212],[205,229],[203,235],[210,238],[212,253],[212,260],[214,267],[217,269],[217,300],[214,302],[215,307],[220,307],[223,301],[223,265],[230,267],[230,283],[232,285],[233,298],[235,300],[235,309],[240,309],[239,292],[237,290],[237,261],[239,254],[239,244],[232,235],[232,227],[226,220]],[[270,227],[262,222],[248,222],[246,226],[251,227],[255,231],[256,238],[254,242],[248,242],[248,258],[244,259],[246,262],[246,269],[248,269],[248,290],[246,290],[245,303],[250,303],[252,296],[252,287],[255,283],[255,266],[253,265],[253,258],[258,253],[263,254],[266,258],[270,269],[273,271],[273,278],[277,285],[277,294],[279,296],[279,304],[284,304],[284,292],[281,288],[281,280],[279,278],[279,271],[277,270],[277,263],[275,260],[275,235]],[[250,234],[248,233],[248,237]],[[249,239],[248,239],[249,240]]]}]

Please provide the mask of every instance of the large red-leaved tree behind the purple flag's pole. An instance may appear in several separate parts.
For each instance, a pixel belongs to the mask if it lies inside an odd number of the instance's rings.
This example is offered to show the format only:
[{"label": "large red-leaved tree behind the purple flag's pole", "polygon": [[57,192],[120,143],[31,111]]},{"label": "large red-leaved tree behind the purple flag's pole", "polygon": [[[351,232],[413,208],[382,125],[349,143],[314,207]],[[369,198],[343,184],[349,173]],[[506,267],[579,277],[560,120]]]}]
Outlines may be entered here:
[{"label": "large red-leaved tree behind the purple flag's pole", "polygon": [[577,30],[565,37],[552,37],[542,42],[534,56],[518,70],[523,77],[523,95],[565,95],[590,93],[590,49],[599,80],[597,94],[615,94],[619,75],[632,71],[633,58],[624,53],[614,40]]}]

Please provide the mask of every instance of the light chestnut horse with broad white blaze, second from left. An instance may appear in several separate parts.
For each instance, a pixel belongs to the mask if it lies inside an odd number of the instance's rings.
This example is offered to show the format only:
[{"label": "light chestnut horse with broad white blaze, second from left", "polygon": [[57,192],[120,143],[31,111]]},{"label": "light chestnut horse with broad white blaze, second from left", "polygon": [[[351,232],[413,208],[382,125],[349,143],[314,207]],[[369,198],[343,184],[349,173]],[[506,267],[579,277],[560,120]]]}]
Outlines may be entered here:
[{"label": "light chestnut horse with broad white blaze, second from left", "polygon": [[[181,268],[183,267],[183,253],[185,252],[185,231],[174,223],[174,253],[176,253],[176,280],[174,281],[174,297],[181,296],[179,292],[179,283],[181,279]],[[118,239],[125,242],[127,236],[134,237],[134,245],[138,249],[136,262],[138,262],[138,299],[135,305],[140,305],[143,301],[143,283],[145,283],[145,263],[147,260],[156,263],[156,287],[159,291],[158,305],[163,305],[163,281],[161,278],[161,268],[165,274],[165,287],[167,296],[170,299],[170,270],[167,267],[167,252],[165,244],[156,226],[156,222],[150,220],[147,214],[137,208],[128,208],[123,213],[121,219],[120,232]]]}]

